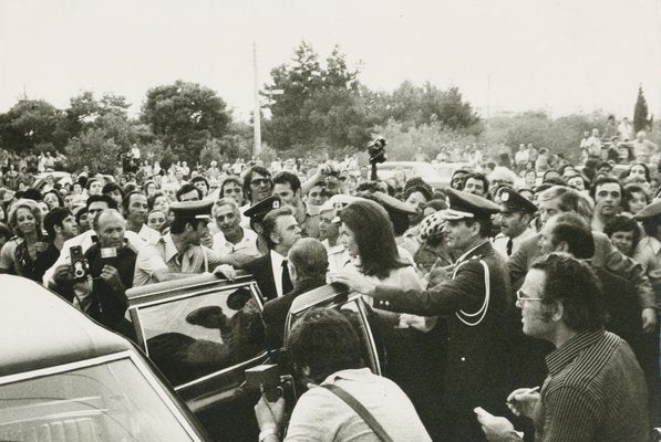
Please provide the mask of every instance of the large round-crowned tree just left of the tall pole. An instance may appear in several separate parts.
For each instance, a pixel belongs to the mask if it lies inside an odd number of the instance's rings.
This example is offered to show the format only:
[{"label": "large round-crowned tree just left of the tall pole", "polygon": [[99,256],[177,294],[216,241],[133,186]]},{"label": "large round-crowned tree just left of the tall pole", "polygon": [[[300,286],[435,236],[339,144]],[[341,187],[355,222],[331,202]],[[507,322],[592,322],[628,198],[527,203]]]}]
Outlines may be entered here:
[{"label": "large round-crowned tree just left of the tall pole", "polygon": [[226,134],[231,122],[216,92],[180,80],[151,88],[141,118],[166,147],[192,162],[207,140]]}]

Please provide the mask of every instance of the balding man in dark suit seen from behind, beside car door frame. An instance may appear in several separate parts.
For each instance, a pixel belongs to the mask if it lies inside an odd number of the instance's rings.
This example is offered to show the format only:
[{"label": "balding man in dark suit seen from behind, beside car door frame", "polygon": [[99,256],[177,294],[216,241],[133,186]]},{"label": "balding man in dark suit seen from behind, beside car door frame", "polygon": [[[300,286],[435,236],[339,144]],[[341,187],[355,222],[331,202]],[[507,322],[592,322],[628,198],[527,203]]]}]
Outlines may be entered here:
[{"label": "balding man in dark suit seen from behind, beside car door frame", "polygon": [[287,254],[287,259],[293,290],[264,305],[267,347],[273,350],[283,345],[285,320],[293,299],[326,284],[328,253],[319,240],[299,240]]}]

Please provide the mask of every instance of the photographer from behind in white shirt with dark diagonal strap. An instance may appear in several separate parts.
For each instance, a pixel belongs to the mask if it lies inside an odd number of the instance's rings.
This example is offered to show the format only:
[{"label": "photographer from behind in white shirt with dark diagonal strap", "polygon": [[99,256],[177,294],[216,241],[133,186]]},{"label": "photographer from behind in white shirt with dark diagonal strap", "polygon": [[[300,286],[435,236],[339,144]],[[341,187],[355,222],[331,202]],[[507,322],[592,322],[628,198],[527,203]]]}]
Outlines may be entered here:
[{"label": "photographer from behind in white shirt with dark diagonal strap", "polygon": [[[358,334],[341,313],[308,312],[293,327],[287,351],[296,376],[310,389],[291,413],[286,441],[379,441],[376,427],[393,441],[431,441],[404,392],[363,367]],[[338,396],[341,391],[331,390],[338,387],[368,410],[370,424]],[[285,399],[269,402],[262,396],[255,413],[259,441],[280,441]]]}]

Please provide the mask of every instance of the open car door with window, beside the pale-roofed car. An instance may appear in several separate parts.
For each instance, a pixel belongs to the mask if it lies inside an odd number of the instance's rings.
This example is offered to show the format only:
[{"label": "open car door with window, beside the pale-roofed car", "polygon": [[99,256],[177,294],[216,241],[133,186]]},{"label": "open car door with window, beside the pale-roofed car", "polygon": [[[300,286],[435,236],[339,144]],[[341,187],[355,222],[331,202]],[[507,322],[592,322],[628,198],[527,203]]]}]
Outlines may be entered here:
[{"label": "open car door with window, beside the pale-roofed car", "polygon": [[250,276],[200,275],[127,292],[137,343],[217,441],[257,439],[247,368],[268,354],[262,297]]}]

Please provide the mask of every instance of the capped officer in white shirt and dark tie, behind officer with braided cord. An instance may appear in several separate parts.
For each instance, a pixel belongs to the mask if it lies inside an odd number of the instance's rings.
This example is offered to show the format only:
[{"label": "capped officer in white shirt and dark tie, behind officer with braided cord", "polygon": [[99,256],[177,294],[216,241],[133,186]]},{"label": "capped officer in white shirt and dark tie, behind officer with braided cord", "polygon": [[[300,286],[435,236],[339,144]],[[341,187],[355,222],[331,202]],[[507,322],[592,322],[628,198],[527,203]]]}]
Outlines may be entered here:
[{"label": "capped officer in white shirt and dark tie, behind officer with braided cord", "polygon": [[496,202],[500,204],[500,233],[494,238],[494,249],[507,257],[517,251],[524,240],[535,235],[530,222],[537,206],[508,187],[500,188]]}]

